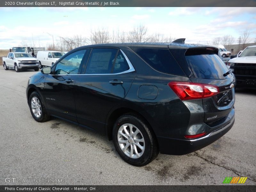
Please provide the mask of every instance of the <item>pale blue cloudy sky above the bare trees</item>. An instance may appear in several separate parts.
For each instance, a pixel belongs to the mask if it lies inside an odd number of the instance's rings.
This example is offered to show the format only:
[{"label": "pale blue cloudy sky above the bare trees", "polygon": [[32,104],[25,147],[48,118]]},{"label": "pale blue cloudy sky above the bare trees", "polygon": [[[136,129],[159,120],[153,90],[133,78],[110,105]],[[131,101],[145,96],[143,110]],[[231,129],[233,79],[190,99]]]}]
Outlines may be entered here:
[{"label": "pale blue cloudy sky above the bare trees", "polygon": [[[0,49],[27,41],[29,46],[47,46],[58,36],[89,36],[91,29],[129,31],[145,25],[148,34],[186,38],[186,43],[207,44],[214,37],[232,35],[237,39],[251,30],[256,39],[256,7],[108,7],[108,8],[0,8]],[[47,34],[49,33],[49,34]]]}]

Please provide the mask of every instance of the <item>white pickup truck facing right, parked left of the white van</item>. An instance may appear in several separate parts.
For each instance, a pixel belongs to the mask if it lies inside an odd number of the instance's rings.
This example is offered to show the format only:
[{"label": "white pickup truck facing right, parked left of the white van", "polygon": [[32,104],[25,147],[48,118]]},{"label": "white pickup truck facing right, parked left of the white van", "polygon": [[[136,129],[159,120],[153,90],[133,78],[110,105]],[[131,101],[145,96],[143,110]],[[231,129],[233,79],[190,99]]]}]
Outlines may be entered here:
[{"label": "white pickup truck facing right, parked left of the white van", "polygon": [[16,72],[19,72],[20,69],[34,69],[38,71],[38,65],[38,60],[25,52],[10,52],[7,57],[3,57],[5,70],[15,69]]}]

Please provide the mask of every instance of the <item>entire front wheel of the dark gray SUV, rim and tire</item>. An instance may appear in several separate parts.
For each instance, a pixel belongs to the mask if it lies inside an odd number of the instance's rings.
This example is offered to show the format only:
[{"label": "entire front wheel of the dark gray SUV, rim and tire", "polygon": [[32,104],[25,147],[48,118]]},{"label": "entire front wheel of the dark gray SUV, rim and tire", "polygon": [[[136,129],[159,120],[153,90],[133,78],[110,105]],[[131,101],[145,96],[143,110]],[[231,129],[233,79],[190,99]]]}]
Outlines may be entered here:
[{"label": "entire front wheel of the dark gray SUV, rim and tire", "polygon": [[34,91],[31,93],[29,96],[28,104],[31,115],[36,121],[45,122],[50,119],[50,116],[48,115],[38,92]]}]

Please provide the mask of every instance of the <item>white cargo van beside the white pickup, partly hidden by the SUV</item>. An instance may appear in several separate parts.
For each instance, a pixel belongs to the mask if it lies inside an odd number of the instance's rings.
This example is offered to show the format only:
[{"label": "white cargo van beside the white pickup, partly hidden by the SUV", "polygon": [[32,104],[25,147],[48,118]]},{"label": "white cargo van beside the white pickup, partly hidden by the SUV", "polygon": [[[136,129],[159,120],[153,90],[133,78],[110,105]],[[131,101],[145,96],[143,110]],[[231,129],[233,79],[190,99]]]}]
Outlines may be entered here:
[{"label": "white cargo van beside the white pickup, partly hidden by the SUV", "polygon": [[39,68],[44,66],[52,66],[65,53],[59,51],[38,51],[36,59],[39,61]]}]

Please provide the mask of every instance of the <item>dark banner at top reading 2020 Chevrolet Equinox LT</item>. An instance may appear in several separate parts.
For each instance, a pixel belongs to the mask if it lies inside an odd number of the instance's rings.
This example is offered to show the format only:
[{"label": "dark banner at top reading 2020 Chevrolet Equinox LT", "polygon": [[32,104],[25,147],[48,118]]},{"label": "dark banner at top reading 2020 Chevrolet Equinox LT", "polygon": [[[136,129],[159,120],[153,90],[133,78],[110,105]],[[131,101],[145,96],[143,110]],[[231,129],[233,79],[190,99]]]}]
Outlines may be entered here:
[{"label": "dark banner at top reading 2020 Chevrolet Equinox LT", "polygon": [[0,7],[255,7],[256,0],[1,0]]}]

